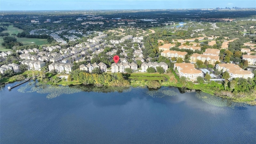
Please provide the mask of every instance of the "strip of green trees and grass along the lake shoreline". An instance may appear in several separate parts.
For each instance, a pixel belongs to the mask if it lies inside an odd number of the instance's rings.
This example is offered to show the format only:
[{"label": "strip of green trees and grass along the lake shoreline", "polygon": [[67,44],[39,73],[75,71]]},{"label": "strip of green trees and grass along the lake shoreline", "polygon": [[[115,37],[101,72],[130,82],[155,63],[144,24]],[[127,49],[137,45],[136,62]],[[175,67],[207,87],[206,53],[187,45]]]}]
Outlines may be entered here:
[{"label": "strip of green trees and grass along the lake shoreline", "polygon": [[[33,78],[38,75],[40,79],[40,72],[27,70],[24,72],[19,72],[15,76],[10,78],[4,77],[0,80],[1,83],[14,82],[17,80],[23,80],[24,78]],[[62,77],[62,78],[60,78]],[[68,77],[68,78],[66,78]],[[177,80],[173,73],[171,74],[150,74],[150,73],[132,73],[132,74],[121,74],[121,73],[103,73],[103,74],[91,74],[81,70],[74,70],[70,75],[56,74],[52,72],[47,72],[45,78],[41,80],[41,83],[50,85],[94,85],[96,87],[106,86],[107,89],[112,87],[116,89],[123,90],[122,87],[148,87],[148,88],[159,88],[161,86],[175,86],[178,88],[189,88],[194,90],[201,90],[210,95],[217,95],[222,98],[228,98],[234,102],[243,102],[250,105],[256,105],[256,88],[254,80],[250,80],[252,83],[249,86],[246,85],[246,81],[243,79],[235,79],[236,84],[234,89],[231,91],[222,82],[205,82],[205,83],[193,83],[191,81]],[[245,80],[245,79],[244,79]],[[230,81],[232,82],[232,81]],[[230,85],[230,82],[228,85]],[[244,90],[242,90],[242,88]],[[86,88],[89,89],[88,87]],[[94,88],[95,89],[95,88]],[[100,88],[99,88],[100,89]],[[86,91],[86,90],[85,90]],[[108,90],[106,90],[108,91]]]}]

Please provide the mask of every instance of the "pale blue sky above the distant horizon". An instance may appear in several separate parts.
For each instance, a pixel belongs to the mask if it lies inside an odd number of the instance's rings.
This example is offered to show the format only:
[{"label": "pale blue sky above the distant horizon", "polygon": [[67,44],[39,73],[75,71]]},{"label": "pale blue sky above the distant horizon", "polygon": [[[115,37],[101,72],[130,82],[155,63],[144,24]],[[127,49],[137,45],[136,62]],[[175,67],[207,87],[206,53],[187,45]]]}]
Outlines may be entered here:
[{"label": "pale blue sky above the distant horizon", "polygon": [[256,8],[256,0],[0,0],[0,10]]}]

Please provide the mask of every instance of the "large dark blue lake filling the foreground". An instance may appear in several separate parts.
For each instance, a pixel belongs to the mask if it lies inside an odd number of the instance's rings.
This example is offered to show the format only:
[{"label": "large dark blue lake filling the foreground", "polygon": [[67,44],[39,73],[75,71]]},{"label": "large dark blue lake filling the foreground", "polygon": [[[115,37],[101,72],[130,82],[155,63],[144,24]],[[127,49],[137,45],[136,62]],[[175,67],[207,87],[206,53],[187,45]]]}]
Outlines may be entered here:
[{"label": "large dark blue lake filling the foreground", "polygon": [[108,92],[116,89],[34,81],[8,91],[16,83],[0,89],[1,144],[256,142],[256,106],[200,91]]}]

